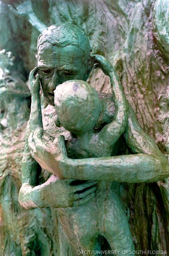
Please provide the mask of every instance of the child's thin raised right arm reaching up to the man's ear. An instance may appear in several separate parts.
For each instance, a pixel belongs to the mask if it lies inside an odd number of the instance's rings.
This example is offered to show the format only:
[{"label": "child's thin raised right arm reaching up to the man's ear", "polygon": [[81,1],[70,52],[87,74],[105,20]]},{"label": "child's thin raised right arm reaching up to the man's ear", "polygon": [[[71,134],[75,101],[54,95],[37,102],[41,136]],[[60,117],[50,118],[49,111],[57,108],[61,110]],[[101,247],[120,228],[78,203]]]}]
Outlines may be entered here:
[{"label": "child's thin raised right arm reaching up to the man's ear", "polygon": [[115,72],[112,64],[103,56],[94,55],[98,62],[97,67],[100,67],[103,72],[110,77],[113,99],[115,100],[116,113],[111,123],[105,125],[99,132],[100,140],[115,145],[120,136],[124,133],[126,122],[128,120],[128,102],[123,92],[123,87],[120,79]]}]

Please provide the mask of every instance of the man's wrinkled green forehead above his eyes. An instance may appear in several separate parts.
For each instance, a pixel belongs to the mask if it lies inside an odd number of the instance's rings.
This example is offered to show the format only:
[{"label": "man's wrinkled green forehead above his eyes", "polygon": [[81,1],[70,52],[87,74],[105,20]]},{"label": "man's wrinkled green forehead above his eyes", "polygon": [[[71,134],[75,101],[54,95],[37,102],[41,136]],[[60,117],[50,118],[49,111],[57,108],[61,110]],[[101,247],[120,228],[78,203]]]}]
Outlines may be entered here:
[{"label": "man's wrinkled green forehead above his eyes", "polygon": [[52,44],[42,44],[38,48],[37,65],[46,65],[48,67],[62,66],[64,64],[79,64],[86,62],[86,54],[78,46],[68,45],[66,47],[57,47]]}]

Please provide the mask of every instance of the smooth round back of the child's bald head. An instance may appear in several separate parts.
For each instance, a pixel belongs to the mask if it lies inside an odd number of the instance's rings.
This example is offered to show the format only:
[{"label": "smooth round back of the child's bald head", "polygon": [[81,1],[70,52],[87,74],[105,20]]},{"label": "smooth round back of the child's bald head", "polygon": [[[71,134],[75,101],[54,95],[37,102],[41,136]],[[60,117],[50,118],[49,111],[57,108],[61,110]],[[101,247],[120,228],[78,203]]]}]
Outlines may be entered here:
[{"label": "smooth round back of the child's bald head", "polygon": [[60,124],[77,135],[91,130],[101,112],[98,93],[81,80],[59,84],[54,91],[54,105]]}]

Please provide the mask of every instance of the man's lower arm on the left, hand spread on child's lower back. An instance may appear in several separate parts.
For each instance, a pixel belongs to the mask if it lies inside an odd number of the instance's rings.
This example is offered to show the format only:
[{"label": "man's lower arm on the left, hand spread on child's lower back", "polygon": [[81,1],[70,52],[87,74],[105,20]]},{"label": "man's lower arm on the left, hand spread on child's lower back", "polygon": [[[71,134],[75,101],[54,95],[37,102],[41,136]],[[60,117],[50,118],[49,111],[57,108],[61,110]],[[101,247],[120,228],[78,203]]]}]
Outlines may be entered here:
[{"label": "man's lower arm on the left, hand spread on child's lower back", "polygon": [[31,156],[28,147],[28,135],[29,132],[27,132],[26,136],[21,171],[22,186],[18,196],[22,207],[26,209],[75,207],[85,204],[95,196],[96,181],[73,184],[74,181],[72,179],[60,180],[52,175],[45,183],[36,186],[41,168]]}]

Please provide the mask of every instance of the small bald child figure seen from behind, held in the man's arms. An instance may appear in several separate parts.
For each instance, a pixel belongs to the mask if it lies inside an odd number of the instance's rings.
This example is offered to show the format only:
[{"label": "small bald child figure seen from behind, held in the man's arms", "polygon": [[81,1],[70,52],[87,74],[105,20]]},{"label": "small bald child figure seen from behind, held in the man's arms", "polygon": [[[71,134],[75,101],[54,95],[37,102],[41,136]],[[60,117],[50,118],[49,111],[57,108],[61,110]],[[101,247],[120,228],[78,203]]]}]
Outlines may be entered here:
[{"label": "small bald child figure seen from behind, held in the man's arms", "polygon": [[[69,158],[112,156],[112,149],[126,128],[128,112],[123,88],[116,80],[118,77],[114,78],[111,85],[115,118],[98,133],[92,131],[102,110],[96,90],[81,80],[66,81],[56,87],[54,105],[57,124],[70,131],[69,140],[65,141]],[[40,113],[39,108],[40,104],[32,102],[32,113]],[[34,123],[37,119],[30,118],[30,125]],[[91,188],[91,193],[94,191]],[[126,255],[131,255],[134,250],[125,209],[113,189],[112,181],[99,181],[95,198],[86,204],[58,208],[57,213],[60,243],[64,233],[74,250],[88,250],[89,255],[89,251],[92,255],[92,250],[114,250],[118,255],[123,255],[124,251]],[[60,256],[65,256],[64,247],[60,248],[63,250]]]}]

